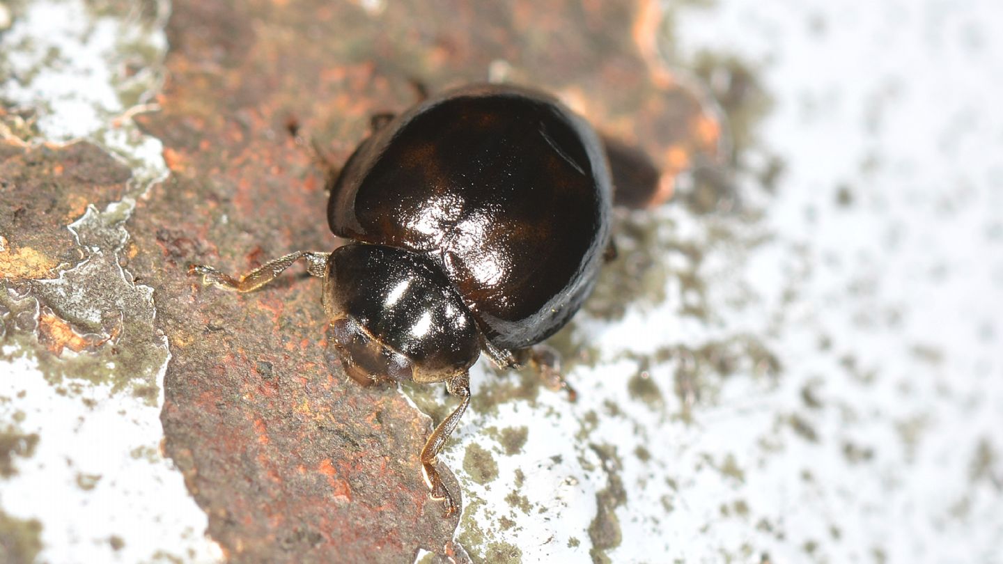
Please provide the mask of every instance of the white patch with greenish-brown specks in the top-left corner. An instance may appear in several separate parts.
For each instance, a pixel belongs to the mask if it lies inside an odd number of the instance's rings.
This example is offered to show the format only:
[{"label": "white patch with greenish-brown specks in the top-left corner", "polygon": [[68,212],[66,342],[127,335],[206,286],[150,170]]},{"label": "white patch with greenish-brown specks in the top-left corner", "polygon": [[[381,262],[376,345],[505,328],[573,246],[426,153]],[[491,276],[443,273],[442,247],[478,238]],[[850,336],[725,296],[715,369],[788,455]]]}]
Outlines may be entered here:
[{"label": "white patch with greenish-brown specks in the top-left corner", "polygon": [[[0,99],[29,112],[41,138],[92,135],[151,97],[166,49],[165,2],[26,2],[0,46]],[[20,5],[19,5],[20,7]],[[157,17],[143,12],[154,7]],[[25,139],[28,140],[28,139]]]}]

